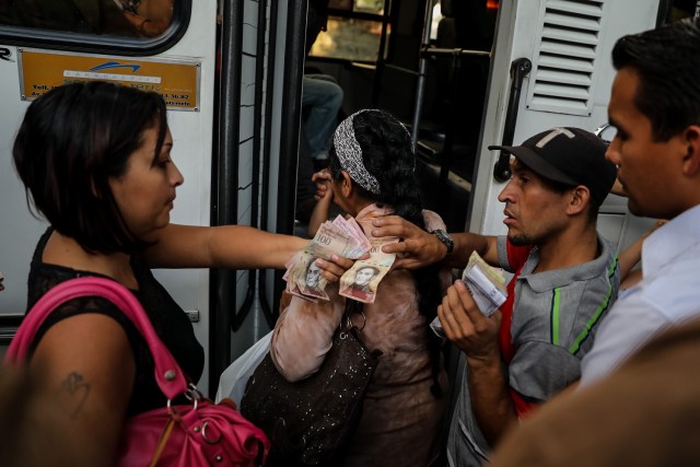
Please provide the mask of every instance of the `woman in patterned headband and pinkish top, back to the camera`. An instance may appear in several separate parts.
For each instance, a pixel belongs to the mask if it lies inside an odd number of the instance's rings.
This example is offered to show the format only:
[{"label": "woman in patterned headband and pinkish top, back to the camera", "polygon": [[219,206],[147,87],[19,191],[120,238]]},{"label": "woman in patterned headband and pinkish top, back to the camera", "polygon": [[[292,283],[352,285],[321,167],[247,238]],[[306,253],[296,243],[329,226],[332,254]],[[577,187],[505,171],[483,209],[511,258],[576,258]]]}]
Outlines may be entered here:
[{"label": "woman in patterned headband and pinkish top, back to the camera", "polygon": [[[392,115],[382,110],[351,115],[338,126],[329,154],[322,197],[354,217],[365,233],[372,219],[388,213],[421,229],[445,227],[438,214],[422,209],[411,138]],[[384,277],[374,303],[346,299],[334,284],[326,288],[329,302],[292,296],[282,311],[271,357],[289,381],[303,380],[319,367],[346,307],[358,312],[352,315],[358,326],[360,313],[364,314],[360,339],[368,349],[383,352],[359,427],[338,465],[420,467],[436,454],[448,382],[442,342],[432,337],[429,323],[450,278],[450,270],[440,265],[396,270]]]}]

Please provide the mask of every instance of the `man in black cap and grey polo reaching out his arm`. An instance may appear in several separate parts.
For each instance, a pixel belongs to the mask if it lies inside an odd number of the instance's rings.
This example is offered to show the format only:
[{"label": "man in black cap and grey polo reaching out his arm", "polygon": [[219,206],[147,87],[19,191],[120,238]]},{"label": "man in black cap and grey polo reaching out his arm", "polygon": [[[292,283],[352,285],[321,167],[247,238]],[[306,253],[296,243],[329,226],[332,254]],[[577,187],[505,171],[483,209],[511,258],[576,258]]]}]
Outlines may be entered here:
[{"label": "man in black cap and grey polo reaching out his arm", "polygon": [[447,441],[451,466],[487,462],[505,429],[576,382],[581,359],[617,296],[612,246],[596,231],[598,208],[615,179],[606,145],[580,128],[553,128],[512,154],[513,176],[499,195],[505,236],[432,235],[397,217],[375,219],[373,235],[396,267],[441,261],[465,267],[472,252],[514,272],[509,297],[491,317],[481,314],[462,281],[438,310],[447,338],[465,357],[465,378]]}]

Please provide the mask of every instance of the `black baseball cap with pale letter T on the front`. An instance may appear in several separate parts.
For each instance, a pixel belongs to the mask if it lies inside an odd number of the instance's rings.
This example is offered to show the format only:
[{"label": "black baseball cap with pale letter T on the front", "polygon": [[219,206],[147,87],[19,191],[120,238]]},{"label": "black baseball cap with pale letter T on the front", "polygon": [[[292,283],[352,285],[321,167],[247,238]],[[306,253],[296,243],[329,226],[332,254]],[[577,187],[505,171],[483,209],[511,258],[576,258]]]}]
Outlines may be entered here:
[{"label": "black baseball cap with pale letter T on the front", "polygon": [[533,172],[567,185],[584,185],[600,206],[617,178],[617,167],[605,159],[607,145],[591,131],[573,127],[552,128],[521,145],[490,145],[513,154]]}]

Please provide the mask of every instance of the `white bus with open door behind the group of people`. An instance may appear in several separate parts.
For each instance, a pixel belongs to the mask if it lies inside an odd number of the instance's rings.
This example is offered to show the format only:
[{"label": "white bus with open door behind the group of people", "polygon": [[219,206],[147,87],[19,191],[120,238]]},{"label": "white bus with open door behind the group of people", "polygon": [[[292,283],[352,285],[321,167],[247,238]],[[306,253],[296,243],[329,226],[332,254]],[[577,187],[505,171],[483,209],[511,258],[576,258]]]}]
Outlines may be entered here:
[{"label": "white bus with open door behind the group of people", "polygon": [[[692,14],[686,3],[330,0],[327,31],[305,57],[306,1],[0,2],[0,343],[25,312],[46,227],[27,209],[11,148],[28,103],[51,86],[106,79],[165,96],[186,179],[174,222],[293,233],[301,79],[313,69],[343,89],[341,115],[378,107],[407,124],[427,206],[450,230],[499,234],[508,171],[487,147],[553,126],[604,126],[615,40]],[[615,196],[600,210],[618,250],[646,222]],[[281,272],[156,276],[190,314],[207,353],[199,387],[213,393],[223,369],[273,325]]]}]

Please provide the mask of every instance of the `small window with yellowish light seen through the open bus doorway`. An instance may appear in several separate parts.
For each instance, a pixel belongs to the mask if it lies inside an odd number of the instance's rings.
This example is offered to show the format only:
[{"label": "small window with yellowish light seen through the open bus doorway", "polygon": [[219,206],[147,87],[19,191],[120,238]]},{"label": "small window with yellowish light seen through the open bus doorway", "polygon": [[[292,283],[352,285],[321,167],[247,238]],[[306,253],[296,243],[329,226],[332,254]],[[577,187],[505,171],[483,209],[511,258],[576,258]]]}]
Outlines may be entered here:
[{"label": "small window with yellowish light seen through the open bus doorway", "polygon": [[[375,62],[380,52],[385,0],[330,0],[326,33],[311,56]],[[387,25],[387,36],[390,27]]]}]

